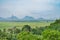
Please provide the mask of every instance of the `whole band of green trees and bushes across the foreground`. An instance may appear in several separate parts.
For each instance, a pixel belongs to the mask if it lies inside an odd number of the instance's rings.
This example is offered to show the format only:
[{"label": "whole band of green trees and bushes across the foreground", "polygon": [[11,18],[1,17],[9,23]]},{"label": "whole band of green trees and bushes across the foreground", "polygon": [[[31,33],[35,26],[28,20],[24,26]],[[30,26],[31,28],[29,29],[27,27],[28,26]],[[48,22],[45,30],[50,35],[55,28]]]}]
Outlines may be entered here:
[{"label": "whole band of green trees and bushes across the foreground", "polygon": [[60,20],[39,28],[24,25],[22,29],[3,29],[0,30],[0,40],[60,40]]}]

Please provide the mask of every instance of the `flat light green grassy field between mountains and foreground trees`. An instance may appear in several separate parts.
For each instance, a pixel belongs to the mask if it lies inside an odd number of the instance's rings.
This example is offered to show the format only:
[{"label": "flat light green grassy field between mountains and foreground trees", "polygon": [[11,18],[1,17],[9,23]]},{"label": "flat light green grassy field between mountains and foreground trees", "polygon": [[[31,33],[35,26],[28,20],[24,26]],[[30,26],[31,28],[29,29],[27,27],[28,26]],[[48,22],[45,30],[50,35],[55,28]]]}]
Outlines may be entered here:
[{"label": "flat light green grassy field between mountains and foreground trees", "polygon": [[16,26],[22,28],[24,25],[30,25],[32,28],[44,27],[50,25],[51,22],[0,22],[0,29],[8,29]]}]

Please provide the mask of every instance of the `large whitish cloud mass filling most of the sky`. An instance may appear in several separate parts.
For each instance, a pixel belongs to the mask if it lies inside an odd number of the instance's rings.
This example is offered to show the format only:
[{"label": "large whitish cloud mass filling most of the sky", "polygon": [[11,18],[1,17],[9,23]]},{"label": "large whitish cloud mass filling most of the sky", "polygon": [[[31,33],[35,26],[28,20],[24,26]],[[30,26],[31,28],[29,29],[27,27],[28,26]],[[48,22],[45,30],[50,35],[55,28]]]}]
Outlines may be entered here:
[{"label": "large whitish cloud mass filling most of the sky", "polygon": [[[7,14],[5,16],[11,15],[12,13],[18,17],[23,17],[26,15],[34,16],[31,14],[31,11],[38,10],[41,12],[45,10],[54,10],[54,6],[51,5],[51,3],[54,2],[55,0],[7,0],[4,1],[2,7],[0,7],[0,10],[6,10],[6,12],[3,11],[5,14]],[[2,14],[2,16],[4,15],[4,13]]]}]

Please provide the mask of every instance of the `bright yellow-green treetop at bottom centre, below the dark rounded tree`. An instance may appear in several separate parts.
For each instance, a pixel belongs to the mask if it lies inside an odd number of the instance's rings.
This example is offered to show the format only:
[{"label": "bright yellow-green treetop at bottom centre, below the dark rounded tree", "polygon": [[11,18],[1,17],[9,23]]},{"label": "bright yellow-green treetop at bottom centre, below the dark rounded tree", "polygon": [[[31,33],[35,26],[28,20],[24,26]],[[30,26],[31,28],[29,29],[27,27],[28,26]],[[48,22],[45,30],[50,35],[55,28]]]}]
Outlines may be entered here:
[{"label": "bright yellow-green treetop at bottom centre, below the dark rounded tree", "polygon": [[32,33],[24,31],[17,35],[17,40],[41,40],[41,39],[37,35],[33,35]]}]

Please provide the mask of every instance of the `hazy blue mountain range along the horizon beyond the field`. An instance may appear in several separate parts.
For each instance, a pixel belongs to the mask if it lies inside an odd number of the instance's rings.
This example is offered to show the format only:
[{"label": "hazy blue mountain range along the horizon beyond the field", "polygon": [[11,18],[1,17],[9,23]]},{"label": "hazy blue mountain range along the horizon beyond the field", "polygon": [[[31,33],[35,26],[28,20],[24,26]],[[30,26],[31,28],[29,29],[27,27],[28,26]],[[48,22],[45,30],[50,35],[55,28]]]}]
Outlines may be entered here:
[{"label": "hazy blue mountain range along the horizon beyond the field", "polygon": [[17,16],[11,16],[8,18],[0,17],[0,21],[45,21],[45,20],[48,20],[48,19],[44,19],[44,18],[35,19],[34,17],[31,17],[31,16],[25,16],[22,19],[19,19]]}]

